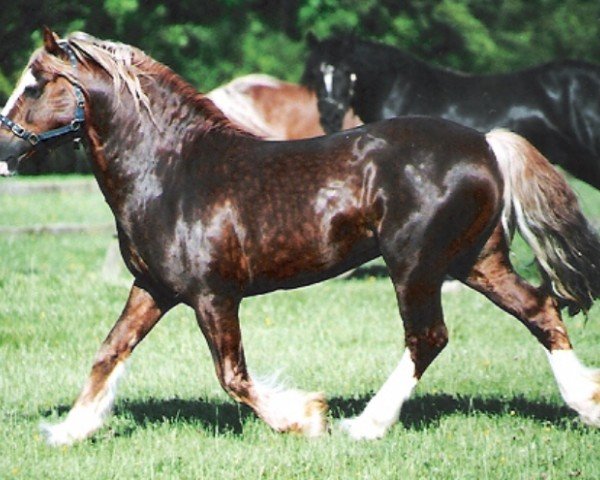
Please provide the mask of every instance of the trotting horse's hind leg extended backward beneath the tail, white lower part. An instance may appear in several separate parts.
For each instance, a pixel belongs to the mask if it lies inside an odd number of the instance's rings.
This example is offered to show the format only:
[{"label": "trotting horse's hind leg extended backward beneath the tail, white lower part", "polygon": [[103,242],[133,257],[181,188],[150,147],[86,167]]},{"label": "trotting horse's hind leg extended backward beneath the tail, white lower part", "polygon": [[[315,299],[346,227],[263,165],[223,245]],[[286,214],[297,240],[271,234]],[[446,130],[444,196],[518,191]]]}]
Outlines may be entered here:
[{"label": "trotting horse's hind leg extended backward beneath the tail, white lower part", "polygon": [[556,301],[512,269],[498,227],[466,279],[506,312],[519,319],[543,345],[565,402],[590,425],[600,426],[600,371],[577,359]]}]

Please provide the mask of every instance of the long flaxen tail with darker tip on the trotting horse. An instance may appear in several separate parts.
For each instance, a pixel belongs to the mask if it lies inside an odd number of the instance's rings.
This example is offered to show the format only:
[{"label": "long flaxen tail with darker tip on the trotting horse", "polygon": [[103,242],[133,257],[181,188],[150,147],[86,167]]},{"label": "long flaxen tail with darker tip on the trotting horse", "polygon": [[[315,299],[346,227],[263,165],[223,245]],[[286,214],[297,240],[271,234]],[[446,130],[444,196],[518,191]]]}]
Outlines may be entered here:
[{"label": "long flaxen tail with darker tip on the trotting horse", "polygon": [[575,193],[523,137],[493,130],[486,139],[504,177],[505,231],[510,236],[516,223],[561,306],[587,312],[600,297],[600,238]]}]

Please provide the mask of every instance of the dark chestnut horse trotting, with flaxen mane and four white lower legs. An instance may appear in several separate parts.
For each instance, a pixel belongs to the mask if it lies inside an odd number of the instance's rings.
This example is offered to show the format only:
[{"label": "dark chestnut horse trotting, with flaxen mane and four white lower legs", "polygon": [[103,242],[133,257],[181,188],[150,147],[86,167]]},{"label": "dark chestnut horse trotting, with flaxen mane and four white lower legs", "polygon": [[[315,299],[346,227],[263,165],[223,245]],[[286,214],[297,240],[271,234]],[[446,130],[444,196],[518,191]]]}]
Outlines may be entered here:
[{"label": "dark chestnut horse trotting, with flaxen mane and four white lower legs", "polygon": [[[567,404],[600,425],[600,374],[573,352],[559,306],[600,295],[600,241],[573,192],[523,138],[425,117],[267,142],[133,47],[44,32],[2,111],[10,170],[36,145],[82,138],[134,276],[124,310],[51,444],[99,429],[125,360],[177,304],[191,307],[225,391],[278,431],[326,431],[319,393],[273,388],[246,368],[244,297],[321,281],[382,255],[406,350],[365,410],[342,423],[377,438],[448,341],[452,275],[515,316],[544,347]],[[544,284],[512,269],[516,224]],[[374,327],[377,328],[377,327]]]}]

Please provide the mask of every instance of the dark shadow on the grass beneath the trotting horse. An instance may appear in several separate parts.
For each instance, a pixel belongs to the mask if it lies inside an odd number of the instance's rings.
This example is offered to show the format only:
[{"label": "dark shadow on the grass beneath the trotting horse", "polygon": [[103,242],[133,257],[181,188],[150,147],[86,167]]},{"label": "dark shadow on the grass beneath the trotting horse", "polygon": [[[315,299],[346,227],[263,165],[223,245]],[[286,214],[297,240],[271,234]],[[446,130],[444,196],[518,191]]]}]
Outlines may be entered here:
[{"label": "dark shadow on the grass beneath the trotting horse", "polygon": [[[330,415],[334,422],[340,418],[358,415],[366,406],[369,396],[359,398],[333,398],[329,400]],[[60,406],[43,412],[44,416],[63,416],[69,407]],[[445,394],[423,395],[404,404],[400,423],[405,428],[424,430],[435,427],[441,419],[450,415],[487,415],[490,417],[514,416],[540,423],[549,423],[559,429],[572,429],[575,413],[566,406],[531,401],[524,397],[509,399],[460,397]],[[123,400],[115,409],[115,416],[124,421],[116,430],[118,436],[129,436],[140,426],[164,422],[198,424],[198,428],[212,431],[216,435],[240,436],[243,425],[254,413],[246,406],[233,402],[210,402],[186,399],[149,399],[131,402]],[[586,428],[581,426],[579,428]]]}]

